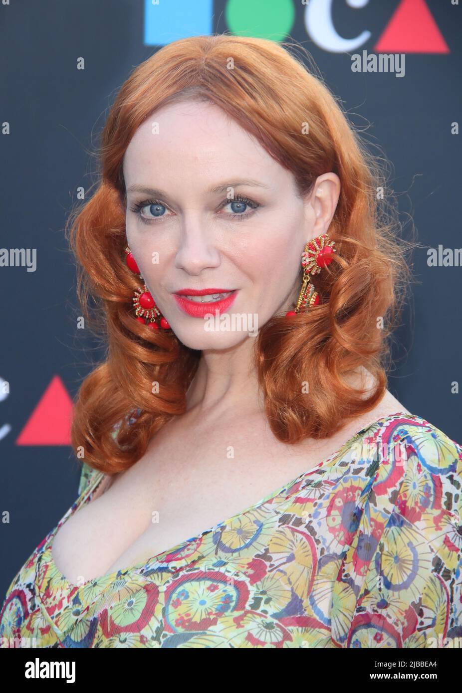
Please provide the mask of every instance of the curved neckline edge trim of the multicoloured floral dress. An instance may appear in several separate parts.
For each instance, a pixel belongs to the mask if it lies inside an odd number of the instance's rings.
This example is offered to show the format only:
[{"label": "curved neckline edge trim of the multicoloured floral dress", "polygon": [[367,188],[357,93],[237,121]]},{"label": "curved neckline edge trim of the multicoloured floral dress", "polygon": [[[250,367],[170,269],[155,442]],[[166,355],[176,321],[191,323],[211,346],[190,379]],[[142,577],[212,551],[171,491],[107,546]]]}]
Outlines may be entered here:
[{"label": "curved neckline edge trim of the multicoloured floral dress", "polygon": [[[58,568],[58,566],[56,565],[56,563],[54,561],[53,552],[52,552],[53,539],[55,537],[55,534],[58,532],[58,529],[60,529],[60,527],[62,527],[62,525],[64,525],[67,522],[69,517],[74,515],[74,513],[77,511],[78,507],[80,507],[80,505],[83,505],[83,503],[85,503],[85,501],[87,501],[88,498],[99,488],[99,484],[101,484],[101,482],[103,481],[103,479],[106,476],[105,473],[100,471],[95,476],[95,479],[92,482],[92,484],[90,484],[89,488],[85,489],[85,491],[83,491],[83,493],[80,494],[80,496],[78,497],[76,502],[74,502],[74,504],[71,505],[71,507],[69,508],[67,513],[61,518],[58,525],[56,525],[56,527],[51,530],[51,532],[50,532],[50,534],[46,540],[46,543],[44,545],[44,552],[45,551],[47,552],[46,563],[50,566],[53,574],[58,576],[57,579],[59,580],[60,586],[62,589],[79,590],[80,591],[81,589],[88,588],[88,586],[92,585],[92,584],[95,584],[95,586],[97,584],[101,584],[103,586],[103,588],[110,586],[110,584],[113,584],[116,581],[117,576],[119,574],[123,575],[126,572],[128,572],[129,570],[136,571],[136,570],[139,570],[140,568],[144,568],[145,566],[151,567],[151,565],[155,565],[156,563],[162,564],[162,561],[159,561],[160,556],[170,556],[171,554],[178,554],[183,548],[187,547],[187,545],[189,545],[189,543],[192,543],[192,542],[202,538],[203,536],[205,536],[205,534],[210,534],[210,532],[213,532],[218,527],[228,525],[228,523],[231,523],[232,520],[235,520],[241,516],[245,516],[246,514],[250,513],[251,511],[264,505],[264,503],[268,502],[269,500],[273,500],[274,498],[277,498],[279,495],[281,495],[282,491],[284,491],[286,489],[290,489],[292,486],[294,486],[295,484],[298,484],[298,482],[303,480],[305,477],[309,476],[310,474],[316,473],[320,468],[325,468],[333,460],[336,460],[338,462],[339,460],[337,458],[340,458],[343,451],[352,445],[352,442],[354,441],[355,438],[357,438],[360,435],[363,435],[370,428],[373,428],[373,426],[384,424],[384,423],[388,422],[389,420],[394,419],[396,416],[402,416],[402,417],[407,418],[407,419],[420,419],[421,421],[423,421],[421,416],[418,416],[417,414],[407,414],[407,412],[395,412],[395,414],[387,414],[386,416],[381,416],[379,419],[376,419],[375,421],[368,423],[366,426],[361,428],[361,430],[354,433],[354,435],[352,435],[350,438],[348,438],[348,440],[345,441],[345,443],[343,443],[343,445],[338,450],[336,450],[334,453],[329,455],[329,457],[325,457],[325,459],[323,459],[321,462],[316,464],[316,466],[311,467],[309,470],[307,470],[305,472],[302,472],[301,474],[299,474],[294,479],[290,480],[289,482],[287,482],[283,486],[280,486],[279,489],[276,489],[275,491],[271,491],[270,493],[265,495],[264,498],[253,503],[253,505],[250,505],[250,506],[246,507],[245,509],[239,511],[239,513],[236,513],[236,514],[232,515],[231,517],[226,518],[225,520],[221,520],[221,522],[216,523],[216,525],[213,525],[212,527],[209,527],[209,529],[205,529],[204,532],[201,532],[197,536],[189,537],[183,541],[180,541],[175,546],[173,546],[167,550],[164,550],[162,552],[159,552],[159,553],[155,554],[155,556],[152,556],[151,558],[145,559],[144,561],[140,561],[139,563],[127,565],[125,568],[118,568],[117,570],[113,570],[112,572],[108,572],[106,574],[100,575],[99,577],[90,578],[89,580],[86,580],[85,582],[81,583],[80,585],[75,585],[67,579],[67,577],[60,571],[60,569]],[[42,554],[44,552],[42,552]]]}]

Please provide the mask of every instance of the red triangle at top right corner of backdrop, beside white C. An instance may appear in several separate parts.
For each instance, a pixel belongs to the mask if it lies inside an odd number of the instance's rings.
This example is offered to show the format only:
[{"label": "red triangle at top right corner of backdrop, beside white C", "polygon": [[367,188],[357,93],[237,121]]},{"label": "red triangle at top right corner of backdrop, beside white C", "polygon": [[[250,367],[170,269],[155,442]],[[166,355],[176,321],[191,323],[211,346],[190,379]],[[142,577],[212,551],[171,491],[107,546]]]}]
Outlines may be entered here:
[{"label": "red triangle at top right corner of backdrop, beside white C", "polygon": [[376,53],[450,53],[425,0],[402,0],[375,45]]}]

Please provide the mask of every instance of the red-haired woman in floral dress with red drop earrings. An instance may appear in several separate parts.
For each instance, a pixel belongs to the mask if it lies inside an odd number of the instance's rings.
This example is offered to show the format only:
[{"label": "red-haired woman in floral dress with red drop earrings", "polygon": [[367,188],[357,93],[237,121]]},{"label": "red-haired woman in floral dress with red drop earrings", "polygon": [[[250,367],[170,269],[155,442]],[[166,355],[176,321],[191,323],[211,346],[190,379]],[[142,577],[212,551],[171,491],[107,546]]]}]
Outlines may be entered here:
[{"label": "red-haired woman in floral dress with red drop earrings", "polygon": [[173,42],[121,87],[101,159],[69,237],[108,358],[3,647],[455,637],[462,450],[386,389],[404,245],[330,91],[274,42]]}]

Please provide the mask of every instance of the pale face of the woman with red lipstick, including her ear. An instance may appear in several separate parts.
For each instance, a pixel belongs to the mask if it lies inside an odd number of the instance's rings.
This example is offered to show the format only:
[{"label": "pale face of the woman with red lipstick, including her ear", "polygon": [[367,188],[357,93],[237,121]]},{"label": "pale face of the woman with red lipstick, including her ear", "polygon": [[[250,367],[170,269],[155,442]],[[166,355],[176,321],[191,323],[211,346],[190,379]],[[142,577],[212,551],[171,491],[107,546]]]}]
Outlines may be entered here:
[{"label": "pale face of the woman with red lipstick, including her ear", "polygon": [[[139,271],[178,339],[201,350],[232,347],[291,310],[305,244],[327,231],[340,191],[327,173],[299,198],[292,173],[255,138],[194,100],[166,105],[138,128],[123,175]],[[177,295],[203,289],[234,292],[232,304],[201,310]]]}]

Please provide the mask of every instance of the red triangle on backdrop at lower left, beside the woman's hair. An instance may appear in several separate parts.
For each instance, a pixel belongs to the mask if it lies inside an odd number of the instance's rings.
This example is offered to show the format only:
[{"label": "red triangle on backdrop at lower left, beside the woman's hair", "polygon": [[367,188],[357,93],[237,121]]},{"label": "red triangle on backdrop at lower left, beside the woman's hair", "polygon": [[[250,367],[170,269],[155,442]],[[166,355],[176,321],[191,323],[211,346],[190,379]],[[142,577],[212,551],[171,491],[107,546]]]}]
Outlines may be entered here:
[{"label": "red triangle on backdrop at lower left, beside the woman's hair", "polygon": [[60,376],[54,376],[17,438],[17,445],[70,445],[74,407]]}]

